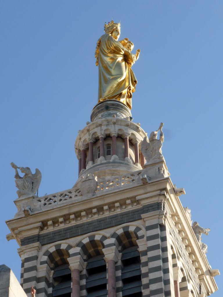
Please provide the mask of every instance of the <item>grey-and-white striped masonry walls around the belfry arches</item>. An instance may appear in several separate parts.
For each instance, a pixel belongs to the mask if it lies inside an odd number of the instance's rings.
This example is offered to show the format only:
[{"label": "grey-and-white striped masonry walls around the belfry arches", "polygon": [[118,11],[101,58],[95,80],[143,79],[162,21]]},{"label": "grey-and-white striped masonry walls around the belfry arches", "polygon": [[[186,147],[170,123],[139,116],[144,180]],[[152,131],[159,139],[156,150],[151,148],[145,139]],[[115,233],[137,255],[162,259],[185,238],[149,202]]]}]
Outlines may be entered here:
[{"label": "grey-and-white striped masonry walls around the belfry arches", "polygon": [[[159,195],[159,202],[154,202],[156,198],[153,198],[153,202],[148,203],[149,199],[148,195],[142,196],[142,206],[136,209],[23,238],[19,249],[21,284],[27,296],[30,297],[30,287],[34,285],[38,297],[52,297],[57,284],[53,278],[54,269],[67,263],[73,277],[72,296],[87,296],[88,260],[103,255],[107,295],[122,297],[125,291],[122,252],[134,246],[138,247],[140,255],[142,297],[176,297],[179,292],[180,296],[192,296],[191,292],[203,293],[183,246],[184,241],[169,215],[165,196]],[[190,281],[186,271],[189,271]]]}]

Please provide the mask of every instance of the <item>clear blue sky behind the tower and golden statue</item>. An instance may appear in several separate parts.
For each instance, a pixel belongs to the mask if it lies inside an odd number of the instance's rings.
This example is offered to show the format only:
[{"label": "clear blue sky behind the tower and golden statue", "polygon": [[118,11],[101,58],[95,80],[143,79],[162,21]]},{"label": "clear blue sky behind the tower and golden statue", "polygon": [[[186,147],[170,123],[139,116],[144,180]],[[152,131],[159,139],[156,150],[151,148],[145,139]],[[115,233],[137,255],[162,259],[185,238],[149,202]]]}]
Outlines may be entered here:
[{"label": "clear blue sky behind the tower and golden statue", "polygon": [[[97,103],[95,46],[103,24],[121,21],[120,39],[141,49],[132,116],[148,134],[164,122],[163,155],[183,206],[211,228],[202,236],[223,273],[222,1],[1,1],[1,253],[20,277],[4,221],[17,198],[10,162],[42,172],[39,195],[77,180],[74,142]],[[221,296],[221,277],[215,277]]]}]

